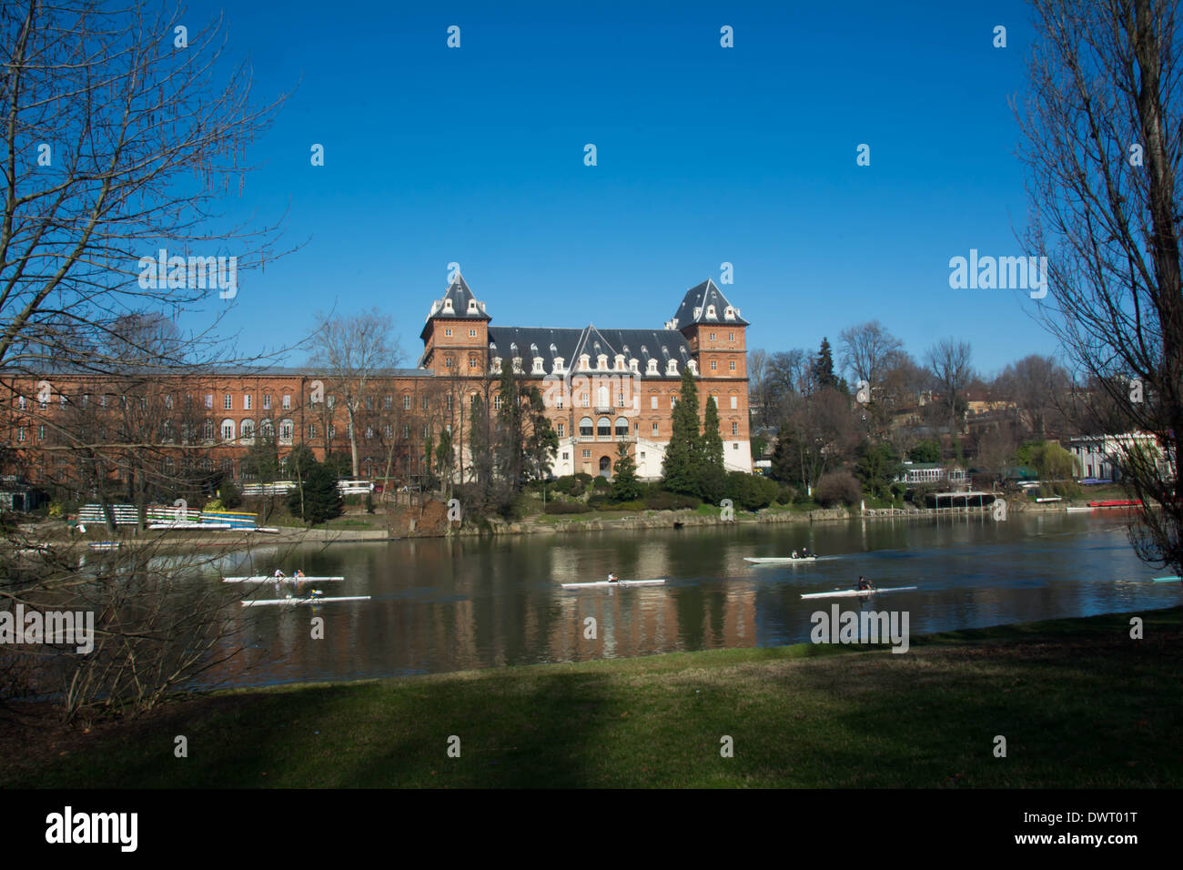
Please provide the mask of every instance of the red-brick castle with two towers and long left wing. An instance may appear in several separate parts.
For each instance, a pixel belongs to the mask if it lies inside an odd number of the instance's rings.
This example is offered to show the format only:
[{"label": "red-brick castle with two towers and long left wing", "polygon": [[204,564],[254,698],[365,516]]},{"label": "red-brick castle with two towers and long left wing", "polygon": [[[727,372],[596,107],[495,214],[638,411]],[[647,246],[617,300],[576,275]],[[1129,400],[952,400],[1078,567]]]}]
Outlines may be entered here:
[{"label": "red-brick castle with two towers and long left wing", "polygon": [[[458,457],[453,475],[467,478],[471,410],[478,397],[494,412],[500,407],[503,360],[524,392],[537,387],[543,397],[558,434],[555,476],[612,477],[623,440],[638,475],[660,477],[685,368],[699,406],[716,402],[726,468],[750,472],[748,326],[706,281],[686,291],[661,329],[499,327],[458,275],[431,305],[418,366],[374,373],[356,402],[358,475],[415,482],[428,446],[446,431]],[[274,440],[280,464],[297,445],[318,459],[351,452],[344,385],[308,368],[51,373],[6,378],[4,386],[5,464],[31,482],[69,478],[88,443],[112,440],[128,468],[140,455],[164,473],[187,469],[246,482],[259,436]]]}]

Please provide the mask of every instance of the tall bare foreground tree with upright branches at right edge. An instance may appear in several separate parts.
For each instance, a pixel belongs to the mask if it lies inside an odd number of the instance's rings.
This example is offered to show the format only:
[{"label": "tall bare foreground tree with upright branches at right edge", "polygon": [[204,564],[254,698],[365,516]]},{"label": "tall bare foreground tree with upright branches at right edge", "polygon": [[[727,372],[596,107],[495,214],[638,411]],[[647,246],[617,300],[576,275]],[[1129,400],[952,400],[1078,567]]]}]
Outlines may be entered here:
[{"label": "tall bare foreground tree with upright branches at right edge", "polygon": [[1139,556],[1183,571],[1179,0],[1032,5],[1017,114],[1027,239],[1049,264],[1043,322],[1129,426],[1163,445],[1114,459],[1145,505],[1131,528]]}]

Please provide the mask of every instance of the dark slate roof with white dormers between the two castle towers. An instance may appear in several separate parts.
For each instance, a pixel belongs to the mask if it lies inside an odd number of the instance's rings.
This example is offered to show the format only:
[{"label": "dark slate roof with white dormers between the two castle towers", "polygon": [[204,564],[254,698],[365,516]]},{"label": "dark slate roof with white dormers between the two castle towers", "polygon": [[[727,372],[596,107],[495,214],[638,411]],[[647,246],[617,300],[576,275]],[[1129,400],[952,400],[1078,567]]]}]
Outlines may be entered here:
[{"label": "dark slate roof with white dormers between the two castle towers", "polygon": [[[542,357],[542,366],[549,374],[555,357],[563,357],[563,365],[573,369],[580,355],[590,357],[593,369],[596,357],[607,354],[608,368],[615,369],[616,354],[625,355],[625,367],[631,359],[638,360],[638,369],[645,374],[651,359],[658,361],[658,375],[681,378],[681,369],[691,359],[690,343],[681,333],[671,329],[548,329],[534,327],[490,327],[489,356],[522,357],[526,373],[534,367],[534,357]],[[666,375],[668,360],[678,361],[678,374]],[[649,375],[652,376],[652,375]]]}]

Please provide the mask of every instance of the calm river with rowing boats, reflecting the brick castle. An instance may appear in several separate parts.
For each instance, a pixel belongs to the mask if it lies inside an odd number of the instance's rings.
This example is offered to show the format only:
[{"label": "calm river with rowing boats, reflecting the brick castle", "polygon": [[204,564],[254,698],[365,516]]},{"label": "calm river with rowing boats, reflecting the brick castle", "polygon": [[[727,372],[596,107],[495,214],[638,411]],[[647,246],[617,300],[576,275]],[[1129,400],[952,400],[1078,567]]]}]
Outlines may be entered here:
[{"label": "calm river with rowing boats, reflecting the brick castle", "polygon": [[[810,614],[906,610],[912,634],[1157,608],[1183,600],[1170,573],[1137,560],[1127,517],[1091,514],[817,524],[741,523],[668,530],[264,547],[226,574],[344,575],[325,595],[369,601],[235,612],[246,652],[215,676],[252,685],[360,679],[809,639]],[[744,556],[809,547],[814,563],[757,567]],[[665,586],[560,584],[666,578]],[[859,575],[916,592],[802,600]],[[201,582],[216,582],[208,576]],[[244,595],[248,594],[244,588]],[[271,598],[270,586],[254,595]],[[890,605],[887,604],[891,599]],[[313,617],[324,638],[311,637]],[[586,619],[596,620],[587,638]]]}]

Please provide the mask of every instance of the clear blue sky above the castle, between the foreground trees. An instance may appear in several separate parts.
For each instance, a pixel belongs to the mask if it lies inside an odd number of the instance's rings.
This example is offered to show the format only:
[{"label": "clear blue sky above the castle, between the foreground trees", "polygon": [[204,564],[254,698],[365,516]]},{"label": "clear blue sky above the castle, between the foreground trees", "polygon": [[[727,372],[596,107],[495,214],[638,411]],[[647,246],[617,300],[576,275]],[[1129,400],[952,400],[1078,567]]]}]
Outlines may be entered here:
[{"label": "clear blue sky above the castle, between the foreground trees", "polygon": [[971,247],[1029,253],[1008,105],[1023,4],[435,6],[189,7],[195,25],[225,8],[259,98],[299,83],[228,204],[287,210],[285,239],[308,239],[240,276],[243,352],[377,305],[413,365],[453,260],[494,324],[661,328],[730,262],[750,348],[836,344],[878,318],[918,356],[969,340],[987,374],[1055,350],[1026,294],[949,288]]}]

